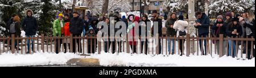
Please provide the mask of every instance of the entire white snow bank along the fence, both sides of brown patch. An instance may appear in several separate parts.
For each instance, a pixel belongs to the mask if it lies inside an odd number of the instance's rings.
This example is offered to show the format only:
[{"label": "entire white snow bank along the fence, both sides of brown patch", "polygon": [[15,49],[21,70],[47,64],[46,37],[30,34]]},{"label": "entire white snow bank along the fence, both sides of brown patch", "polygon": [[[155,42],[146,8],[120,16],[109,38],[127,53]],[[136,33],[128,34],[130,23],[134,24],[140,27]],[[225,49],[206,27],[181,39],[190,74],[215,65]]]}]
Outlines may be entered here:
[{"label": "entire white snow bank along the fence, both sides of brown patch", "polygon": [[[255,67],[255,58],[242,60],[232,57],[218,58],[217,55],[180,57],[179,55],[144,55],[119,53],[92,54],[86,58],[100,60],[101,66],[136,66],[136,67]],[[43,66],[43,65],[67,65],[67,61],[73,58],[85,58],[72,53],[35,53],[35,54],[11,54],[0,55],[0,67],[2,66]]]}]

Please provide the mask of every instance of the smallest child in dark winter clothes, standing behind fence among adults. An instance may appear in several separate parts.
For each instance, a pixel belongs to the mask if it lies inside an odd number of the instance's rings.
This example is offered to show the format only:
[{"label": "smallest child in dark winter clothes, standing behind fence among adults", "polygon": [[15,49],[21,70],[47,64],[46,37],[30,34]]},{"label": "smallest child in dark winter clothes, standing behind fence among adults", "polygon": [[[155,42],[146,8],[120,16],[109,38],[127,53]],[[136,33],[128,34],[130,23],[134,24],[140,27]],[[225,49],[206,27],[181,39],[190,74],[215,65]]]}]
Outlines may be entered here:
[{"label": "smallest child in dark winter clothes, standing behind fence among adults", "polygon": [[[94,41],[96,41],[95,38],[90,38],[90,37],[96,37],[96,33],[94,32],[94,29],[92,27],[89,28],[89,31],[86,32],[86,36],[89,37],[89,39],[87,40],[88,41],[88,53],[93,53],[96,51],[94,49],[95,47],[95,43]],[[91,49],[92,48],[92,49]]]}]

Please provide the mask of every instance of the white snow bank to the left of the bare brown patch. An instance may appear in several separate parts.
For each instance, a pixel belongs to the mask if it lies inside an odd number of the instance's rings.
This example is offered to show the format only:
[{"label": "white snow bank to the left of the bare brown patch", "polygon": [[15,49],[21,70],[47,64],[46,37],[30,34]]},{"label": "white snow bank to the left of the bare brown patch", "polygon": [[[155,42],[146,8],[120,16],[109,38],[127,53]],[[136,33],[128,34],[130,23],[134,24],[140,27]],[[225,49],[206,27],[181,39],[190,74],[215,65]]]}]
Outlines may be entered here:
[{"label": "white snow bank to the left of the bare brown patch", "polygon": [[73,53],[34,53],[26,55],[3,53],[0,55],[0,67],[64,65],[72,58],[82,58],[82,56]]}]

